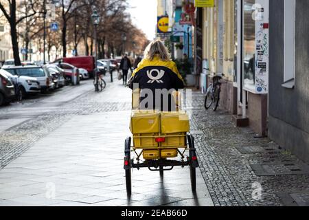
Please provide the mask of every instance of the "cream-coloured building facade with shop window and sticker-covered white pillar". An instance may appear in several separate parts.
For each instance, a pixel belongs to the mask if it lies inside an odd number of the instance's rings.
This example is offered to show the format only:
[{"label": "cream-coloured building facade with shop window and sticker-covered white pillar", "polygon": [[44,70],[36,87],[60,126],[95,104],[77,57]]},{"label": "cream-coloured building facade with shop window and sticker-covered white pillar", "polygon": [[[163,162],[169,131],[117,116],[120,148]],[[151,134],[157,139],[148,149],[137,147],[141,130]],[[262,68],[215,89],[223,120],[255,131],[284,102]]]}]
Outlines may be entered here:
[{"label": "cream-coloured building facade with shop window and sticker-covered white pillar", "polygon": [[196,61],[201,90],[223,73],[220,106],[236,115],[238,125],[266,135],[268,0],[214,0],[196,14],[202,20],[196,29],[202,32],[203,58]]}]

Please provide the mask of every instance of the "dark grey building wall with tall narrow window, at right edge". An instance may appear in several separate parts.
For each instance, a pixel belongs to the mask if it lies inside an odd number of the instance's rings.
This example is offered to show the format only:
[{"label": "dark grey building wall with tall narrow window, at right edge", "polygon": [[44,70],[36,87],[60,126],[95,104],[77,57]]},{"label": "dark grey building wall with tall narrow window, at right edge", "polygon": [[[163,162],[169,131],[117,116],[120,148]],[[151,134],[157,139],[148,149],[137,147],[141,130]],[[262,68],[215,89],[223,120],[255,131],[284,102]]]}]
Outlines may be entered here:
[{"label": "dark grey building wall with tall narrow window, at right edge", "polygon": [[309,162],[309,1],[270,1],[269,136]]}]

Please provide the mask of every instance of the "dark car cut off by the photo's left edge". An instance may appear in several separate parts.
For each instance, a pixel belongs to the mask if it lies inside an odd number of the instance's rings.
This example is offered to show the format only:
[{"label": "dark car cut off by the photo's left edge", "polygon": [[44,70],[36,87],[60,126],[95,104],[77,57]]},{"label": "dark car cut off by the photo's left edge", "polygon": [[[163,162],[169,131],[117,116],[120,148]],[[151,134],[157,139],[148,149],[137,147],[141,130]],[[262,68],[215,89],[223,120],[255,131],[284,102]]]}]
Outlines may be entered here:
[{"label": "dark car cut off by the photo's left edge", "polygon": [[0,106],[10,102],[15,97],[15,89],[12,80],[0,69]]}]

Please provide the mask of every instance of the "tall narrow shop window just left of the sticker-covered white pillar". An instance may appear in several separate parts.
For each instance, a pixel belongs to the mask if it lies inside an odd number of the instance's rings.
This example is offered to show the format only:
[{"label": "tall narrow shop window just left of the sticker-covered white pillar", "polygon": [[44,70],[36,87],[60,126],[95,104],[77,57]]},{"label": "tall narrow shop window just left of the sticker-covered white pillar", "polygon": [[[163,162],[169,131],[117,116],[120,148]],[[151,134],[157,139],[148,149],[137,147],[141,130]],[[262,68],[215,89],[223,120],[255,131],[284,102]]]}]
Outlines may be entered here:
[{"label": "tall narrow shop window just left of the sticker-covered white pillar", "polygon": [[255,0],[244,0],[244,87],[255,91]]}]

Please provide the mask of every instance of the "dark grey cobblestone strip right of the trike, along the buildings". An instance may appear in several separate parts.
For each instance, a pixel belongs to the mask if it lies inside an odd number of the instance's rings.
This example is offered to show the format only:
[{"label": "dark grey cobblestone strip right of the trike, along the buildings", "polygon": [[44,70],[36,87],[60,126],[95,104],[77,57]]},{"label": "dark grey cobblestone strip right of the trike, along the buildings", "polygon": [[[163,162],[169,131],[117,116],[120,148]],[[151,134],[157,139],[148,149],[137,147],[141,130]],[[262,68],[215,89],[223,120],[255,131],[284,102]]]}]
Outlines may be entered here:
[{"label": "dark grey cobblestone strip right of the trike, along the buildings", "polygon": [[[255,138],[251,129],[237,128],[226,111],[220,108],[216,113],[205,111],[203,99],[203,95],[194,94],[192,126],[194,130],[203,131],[195,135],[196,148],[215,206],[283,206],[277,193],[307,191],[308,194],[308,173],[255,175],[251,164],[284,163],[288,166],[300,161],[268,138]],[[242,146],[255,146],[263,151],[240,153],[238,149]],[[259,185],[262,197],[253,199]]]}]

